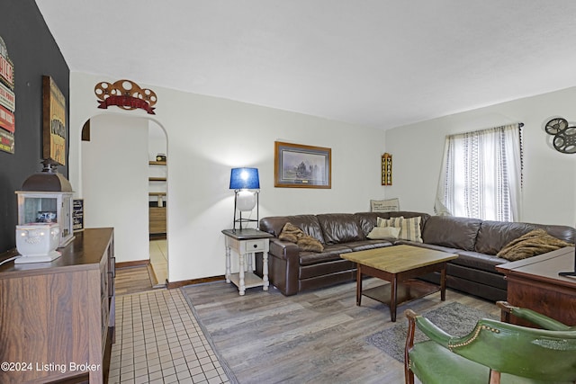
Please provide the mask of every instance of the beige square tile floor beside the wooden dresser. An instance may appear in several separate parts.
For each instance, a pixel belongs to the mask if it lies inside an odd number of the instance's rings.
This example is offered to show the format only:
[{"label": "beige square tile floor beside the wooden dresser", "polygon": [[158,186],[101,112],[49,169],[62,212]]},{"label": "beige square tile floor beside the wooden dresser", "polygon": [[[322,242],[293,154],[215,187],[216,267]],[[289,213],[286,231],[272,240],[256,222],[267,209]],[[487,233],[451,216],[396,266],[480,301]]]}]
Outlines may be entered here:
[{"label": "beige square tile floor beside the wooden dresser", "polygon": [[182,292],[116,297],[109,383],[229,383]]}]

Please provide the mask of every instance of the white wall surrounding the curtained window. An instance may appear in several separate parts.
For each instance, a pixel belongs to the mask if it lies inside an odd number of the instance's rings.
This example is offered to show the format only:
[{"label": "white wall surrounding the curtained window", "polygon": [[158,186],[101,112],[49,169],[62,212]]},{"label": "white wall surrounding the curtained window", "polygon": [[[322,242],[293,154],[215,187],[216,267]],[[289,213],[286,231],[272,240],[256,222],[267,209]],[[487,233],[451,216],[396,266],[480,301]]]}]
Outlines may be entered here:
[{"label": "white wall surrounding the curtained window", "polygon": [[576,154],[557,152],[544,126],[554,116],[576,125],[576,87],[389,129],[393,185],[387,197],[401,208],[434,212],[438,174],[448,134],[524,122],[524,212],[521,221],[576,226]]}]

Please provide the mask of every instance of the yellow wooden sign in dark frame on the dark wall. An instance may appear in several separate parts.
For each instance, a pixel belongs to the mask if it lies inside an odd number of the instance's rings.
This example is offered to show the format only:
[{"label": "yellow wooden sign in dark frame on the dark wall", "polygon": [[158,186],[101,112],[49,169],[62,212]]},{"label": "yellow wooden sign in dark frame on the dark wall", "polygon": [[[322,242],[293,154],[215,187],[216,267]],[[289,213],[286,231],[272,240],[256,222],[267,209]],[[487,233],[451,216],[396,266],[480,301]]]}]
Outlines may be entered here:
[{"label": "yellow wooden sign in dark frame on the dark wall", "polygon": [[50,76],[42,76],[42,156],[66,165],[66,98]]}]

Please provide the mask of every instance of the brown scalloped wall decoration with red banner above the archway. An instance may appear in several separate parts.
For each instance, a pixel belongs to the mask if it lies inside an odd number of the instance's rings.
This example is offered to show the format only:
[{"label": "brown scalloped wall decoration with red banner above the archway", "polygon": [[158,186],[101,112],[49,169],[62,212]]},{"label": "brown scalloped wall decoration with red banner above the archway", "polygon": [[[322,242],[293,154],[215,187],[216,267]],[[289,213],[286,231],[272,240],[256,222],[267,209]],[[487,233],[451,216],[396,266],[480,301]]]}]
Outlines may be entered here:
[{"label": "brown scalloped wall decoration with red banner above the archway", "polygon": [[110,105],[116,105],[123,110],[139,108],[148,114],[156,114],[153,108],[157,102],[156,93],[148,88],[140,88],[130,80],[118,80],[113,84],[103,81],[94,86],[94,94],[100,100],[98,108],[104,110]]}]

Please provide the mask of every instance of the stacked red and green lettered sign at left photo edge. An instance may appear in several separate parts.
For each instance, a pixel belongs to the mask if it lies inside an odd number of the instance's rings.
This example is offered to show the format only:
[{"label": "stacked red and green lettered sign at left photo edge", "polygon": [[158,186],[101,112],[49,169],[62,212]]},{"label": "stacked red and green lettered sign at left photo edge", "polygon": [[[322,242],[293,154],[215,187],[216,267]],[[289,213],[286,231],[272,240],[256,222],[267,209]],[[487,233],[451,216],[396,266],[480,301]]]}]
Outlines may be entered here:
[{"label": "stacked red and green lettered sign at left photo edge", "polygon": [[8,48],[0,37],[0,150],[11,154],[14,154],[15,110],[14,64],[8,58]]}]

